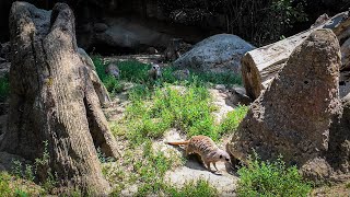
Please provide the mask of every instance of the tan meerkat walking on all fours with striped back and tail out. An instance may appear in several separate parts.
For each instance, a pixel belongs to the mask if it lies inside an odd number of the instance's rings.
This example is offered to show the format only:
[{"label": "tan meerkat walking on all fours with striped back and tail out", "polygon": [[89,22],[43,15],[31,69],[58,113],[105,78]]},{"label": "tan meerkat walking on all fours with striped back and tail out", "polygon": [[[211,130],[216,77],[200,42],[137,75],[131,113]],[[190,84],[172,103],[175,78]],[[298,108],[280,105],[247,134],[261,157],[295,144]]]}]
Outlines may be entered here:
[{"label": "tan meerkat walking on all fours with striped back and tail out", "polygon": [[218,146],[207,136],[194,136],[187,141],[179,141],[179,142],[166,142],[167,144],[172,146],[179,146],[185,144],[186,147],[186,155],[196,153],[199,154],[205,166],[210,172],[212,171],[210,167],[210,163],[213,164],[217,171],[218,167],[215,165],[217,162],[223,161],[231,163],[230,155],[226,151],[221,150]]}]

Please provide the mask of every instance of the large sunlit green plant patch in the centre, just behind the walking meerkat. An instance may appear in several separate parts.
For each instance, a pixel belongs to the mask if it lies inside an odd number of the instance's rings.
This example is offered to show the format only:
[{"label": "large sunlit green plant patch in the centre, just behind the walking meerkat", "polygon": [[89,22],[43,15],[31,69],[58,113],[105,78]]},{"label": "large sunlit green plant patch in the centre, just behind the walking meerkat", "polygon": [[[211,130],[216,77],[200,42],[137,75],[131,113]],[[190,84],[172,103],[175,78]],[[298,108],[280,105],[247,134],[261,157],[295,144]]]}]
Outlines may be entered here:
[{"label": "large sunlit green plant patch in the centre, just behind the walking meerkat", "polygon": [[212,116],[215,108],[208,90],[195,83],[186,88],[164,85],[155,88],[152,95],[147,89],[131,91],[131,104],[126,108],[129,139],[140,143],[145,138],[161,137],[171,127],[188,136],[201,134],[218,139]]}]

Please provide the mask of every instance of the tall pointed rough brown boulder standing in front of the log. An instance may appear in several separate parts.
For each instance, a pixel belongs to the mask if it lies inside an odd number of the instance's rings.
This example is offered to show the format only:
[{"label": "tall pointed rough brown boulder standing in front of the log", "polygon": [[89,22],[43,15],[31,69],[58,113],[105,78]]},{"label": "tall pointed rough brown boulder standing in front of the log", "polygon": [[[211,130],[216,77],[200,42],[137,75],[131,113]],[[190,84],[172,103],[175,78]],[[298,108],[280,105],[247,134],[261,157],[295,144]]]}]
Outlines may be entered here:
[{"label": "tall pointed rough brown boulder standing in front of the log", "polygon": [[[330,30],[313,32],[290,56],[270,86],[252,104],[229,152],[246,162],[253,150],[262,160],[282,154],[313,178],[329,177],[326,153],[339,100],[340,47]],[[334,132],[337,132],[335,130]]]}]

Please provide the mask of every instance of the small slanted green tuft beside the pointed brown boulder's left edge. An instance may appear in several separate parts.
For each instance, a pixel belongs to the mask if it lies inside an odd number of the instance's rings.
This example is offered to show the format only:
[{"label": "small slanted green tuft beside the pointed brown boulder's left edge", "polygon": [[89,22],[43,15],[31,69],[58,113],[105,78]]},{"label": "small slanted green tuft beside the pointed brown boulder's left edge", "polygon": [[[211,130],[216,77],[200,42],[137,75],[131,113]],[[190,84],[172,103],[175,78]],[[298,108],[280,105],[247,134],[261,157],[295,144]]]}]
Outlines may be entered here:
[{"label": "small slanted green tuft beside the pointed brown boulder's left edge", "polygon": [[245,115],[248,112],[248,106],[240,105],[234,111],[229,112],[226,117],[223,119],[223,121],[220,125],[219,134],[230,134],[237,129],[240,123],[243,120]]}]

